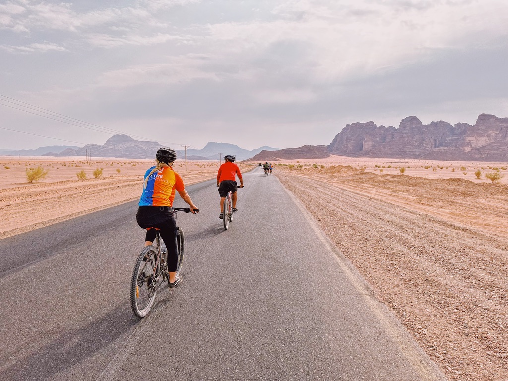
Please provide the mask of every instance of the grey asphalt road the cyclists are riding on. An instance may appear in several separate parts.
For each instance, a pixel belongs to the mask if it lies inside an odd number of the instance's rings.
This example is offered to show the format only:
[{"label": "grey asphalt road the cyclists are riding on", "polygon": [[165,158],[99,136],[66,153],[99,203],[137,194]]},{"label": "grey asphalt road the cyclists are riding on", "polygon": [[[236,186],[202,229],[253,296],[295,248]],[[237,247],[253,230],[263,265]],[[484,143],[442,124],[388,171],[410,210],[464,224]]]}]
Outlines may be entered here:
[{"label": "grey asphalt road the cyclists are riding on", "polygon": [[136,203],[0,240],[0,379],[445,379],[275,176],[244,183],[227,231],[187,187],[184,279],[143,320]]}]

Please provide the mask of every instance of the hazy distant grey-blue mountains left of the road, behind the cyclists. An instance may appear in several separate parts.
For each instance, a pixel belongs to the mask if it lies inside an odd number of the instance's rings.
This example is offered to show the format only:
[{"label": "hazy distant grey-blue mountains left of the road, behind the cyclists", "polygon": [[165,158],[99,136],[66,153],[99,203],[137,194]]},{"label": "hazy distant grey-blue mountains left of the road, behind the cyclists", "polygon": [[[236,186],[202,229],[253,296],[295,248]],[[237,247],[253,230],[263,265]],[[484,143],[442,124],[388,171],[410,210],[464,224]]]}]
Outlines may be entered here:
[{"label": "hazy distant grey-blue mountains left of the road, behind the cyclists", "polygon": [[[163,147],[157,142],[143,142],[135,140],[128,135],[114,135],[109,138],[104,145],[87,144],[84,147],[68,147],[58,152],[46,151],[39,153],[42,156],[86,156],[92,157],[122,157],[122,158],[153,158],[157,149]],[[234,144],[228,143],[208,143],[203,149],[187,149],[187,160],[219,160],[219,156],[232,154],[237,160],[256,155],[263,150],[277,150],[277,148],[261,147],[254,150],[240,148]],[[176,150],[178,158],[185,157],[184,150]],[[10,153],[13,154],[13,153]],[[14,153],[18,154],[18,153]]]}]

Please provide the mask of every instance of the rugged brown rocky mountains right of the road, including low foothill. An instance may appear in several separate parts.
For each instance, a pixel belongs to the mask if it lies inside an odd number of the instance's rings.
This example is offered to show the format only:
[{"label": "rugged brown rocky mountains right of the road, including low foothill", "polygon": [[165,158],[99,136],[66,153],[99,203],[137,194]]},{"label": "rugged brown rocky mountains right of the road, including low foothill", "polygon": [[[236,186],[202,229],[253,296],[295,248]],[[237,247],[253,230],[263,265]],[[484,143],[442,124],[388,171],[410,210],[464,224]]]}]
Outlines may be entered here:
[{"label": "rugged brown rocky mountains right of the road, including low foothill", "polygon": [[[423,124],[408,116],[399,128],[373,121],[346,124],[326,146],[303,146],[261,152],[252,161],[276,161],[340,155],[351,157],[416,158],[457,161],[508,161],[508,118],[480,114],[477,121],[456,123],[439,120]],[[319,155],[316,156],[317,152]]]}]

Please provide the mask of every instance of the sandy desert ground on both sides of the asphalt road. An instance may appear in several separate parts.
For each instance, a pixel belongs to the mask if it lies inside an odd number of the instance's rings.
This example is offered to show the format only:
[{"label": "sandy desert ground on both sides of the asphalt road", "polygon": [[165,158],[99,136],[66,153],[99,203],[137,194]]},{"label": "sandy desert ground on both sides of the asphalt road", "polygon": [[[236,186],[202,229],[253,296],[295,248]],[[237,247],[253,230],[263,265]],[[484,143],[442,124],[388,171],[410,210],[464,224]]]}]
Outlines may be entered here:
[{"label": "sandy desert ground on both sides of the asphalt road", "polygon": [[[1,156],[0,163],[0,238],[135,200],[152,164]],[[37,166],[48,176],[28,183],[26,168]],[[175,169],[191,184],[214,178],[218,166]],[[337,156],[278,162],[274,173],[450,379],[507,381],[508,174],[497,184],[484,178],[505,167]],[[97,168],[104,169],[96,179]]]}]

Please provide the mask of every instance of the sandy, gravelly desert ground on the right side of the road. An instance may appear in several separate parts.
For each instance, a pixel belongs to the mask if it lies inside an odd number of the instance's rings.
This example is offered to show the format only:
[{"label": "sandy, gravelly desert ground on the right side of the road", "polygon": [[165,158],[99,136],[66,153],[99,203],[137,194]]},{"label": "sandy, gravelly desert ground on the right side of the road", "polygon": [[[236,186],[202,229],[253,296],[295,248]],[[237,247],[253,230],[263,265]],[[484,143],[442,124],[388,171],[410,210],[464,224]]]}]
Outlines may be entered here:
[{"label": "sandy, gravelly desert ground on the right side of the road", "polygon": [[508,185],[471,178],[502,164],[427,165],[340,158],[275,173],[450,379],[506,381]]}]

